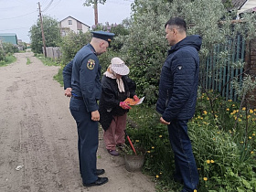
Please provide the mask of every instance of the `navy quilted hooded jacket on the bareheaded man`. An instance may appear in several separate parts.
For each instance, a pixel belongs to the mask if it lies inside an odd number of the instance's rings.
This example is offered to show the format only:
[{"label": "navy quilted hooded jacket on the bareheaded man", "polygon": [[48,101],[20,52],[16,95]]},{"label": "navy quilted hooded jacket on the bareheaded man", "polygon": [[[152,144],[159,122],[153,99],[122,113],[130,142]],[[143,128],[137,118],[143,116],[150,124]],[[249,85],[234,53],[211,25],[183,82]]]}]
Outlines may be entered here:
[{"label": "navy quilted hooded jacket on the bareheaded man", "polygon": [[188,120],[195,113],[201,44],[201,37],[188,36],[168,50],[156,102],[156,111],[166,122]]}]

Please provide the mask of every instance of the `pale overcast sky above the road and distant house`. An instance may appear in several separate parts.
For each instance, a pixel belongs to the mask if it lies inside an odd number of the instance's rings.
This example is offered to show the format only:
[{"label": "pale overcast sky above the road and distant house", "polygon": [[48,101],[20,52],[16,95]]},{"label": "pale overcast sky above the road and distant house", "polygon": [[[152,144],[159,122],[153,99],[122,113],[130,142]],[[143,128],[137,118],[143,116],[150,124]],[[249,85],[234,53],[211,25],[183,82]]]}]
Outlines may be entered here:
[{"label": "pale overcast sky above the road and distant house", "polygon": [[[0,0],[0,33],[16,33],[18,39],[29,42],[28,31],[36,24],[38,18],[38,2],[42,15],[62,20],[73,16],[82,23],[94,25],[94,10],[91,6],[83,6],[85,0]],[[99,23],[120,24],[130,17],[133,0],[107,0],[98,5]]]}]

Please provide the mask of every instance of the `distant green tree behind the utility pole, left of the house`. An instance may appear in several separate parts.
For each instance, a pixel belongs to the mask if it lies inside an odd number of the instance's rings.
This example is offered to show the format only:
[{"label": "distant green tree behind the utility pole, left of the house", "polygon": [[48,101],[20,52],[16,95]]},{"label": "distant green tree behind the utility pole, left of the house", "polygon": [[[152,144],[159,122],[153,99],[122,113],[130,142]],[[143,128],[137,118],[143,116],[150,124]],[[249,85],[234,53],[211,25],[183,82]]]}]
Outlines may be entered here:
[{"label": "distant green tree behind the utility pole, left of the house", "polygon": [[[61,41],[59,32],[59,22],[58,20],[50,17],[43,16],[43,27],[44,34],[46,38],[47,47],[57,47]],[[42,41],[42,31],[40,26],[40,19],[37,19],[37,24],[30,27],[29,37],[31,40],[31,48],[35,53],[42,53],[43,41]]]}]

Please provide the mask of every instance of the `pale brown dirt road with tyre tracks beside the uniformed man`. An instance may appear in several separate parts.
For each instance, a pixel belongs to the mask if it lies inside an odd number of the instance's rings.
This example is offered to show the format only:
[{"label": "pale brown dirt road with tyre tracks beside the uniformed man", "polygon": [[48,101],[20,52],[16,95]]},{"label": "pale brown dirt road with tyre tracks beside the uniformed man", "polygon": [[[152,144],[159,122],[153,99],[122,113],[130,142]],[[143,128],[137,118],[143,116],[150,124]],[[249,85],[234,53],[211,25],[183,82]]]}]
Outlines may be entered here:
[{"label": "pale brown dirt road with tyre tracks beside the uniformed man", "polygon": [[58,67],[44,66],[31,52],[16,58],[0,68],[0,192],[155,191],[149,177],[127,172],[123,157],[107,153],[101,135],[97,164],[109,182],[82,187],[76,123],[53,80]]}]

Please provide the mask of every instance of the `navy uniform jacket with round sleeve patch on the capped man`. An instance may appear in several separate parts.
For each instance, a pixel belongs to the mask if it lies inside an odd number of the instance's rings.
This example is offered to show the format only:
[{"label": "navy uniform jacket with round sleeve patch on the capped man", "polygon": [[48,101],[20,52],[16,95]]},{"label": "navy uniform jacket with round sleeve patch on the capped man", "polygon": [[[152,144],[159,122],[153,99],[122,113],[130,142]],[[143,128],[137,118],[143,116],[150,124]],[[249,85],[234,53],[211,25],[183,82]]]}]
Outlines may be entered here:
[{"label": "navy uniform jacket with round sleeve patch on the capped man", "polygon": [[91,44],[81,48],[63,69],[64,89],[69,87],[69,80],[72,95],[84,101],[88,112],[97,111],[97,101],[101,98],[101,66]]}]

